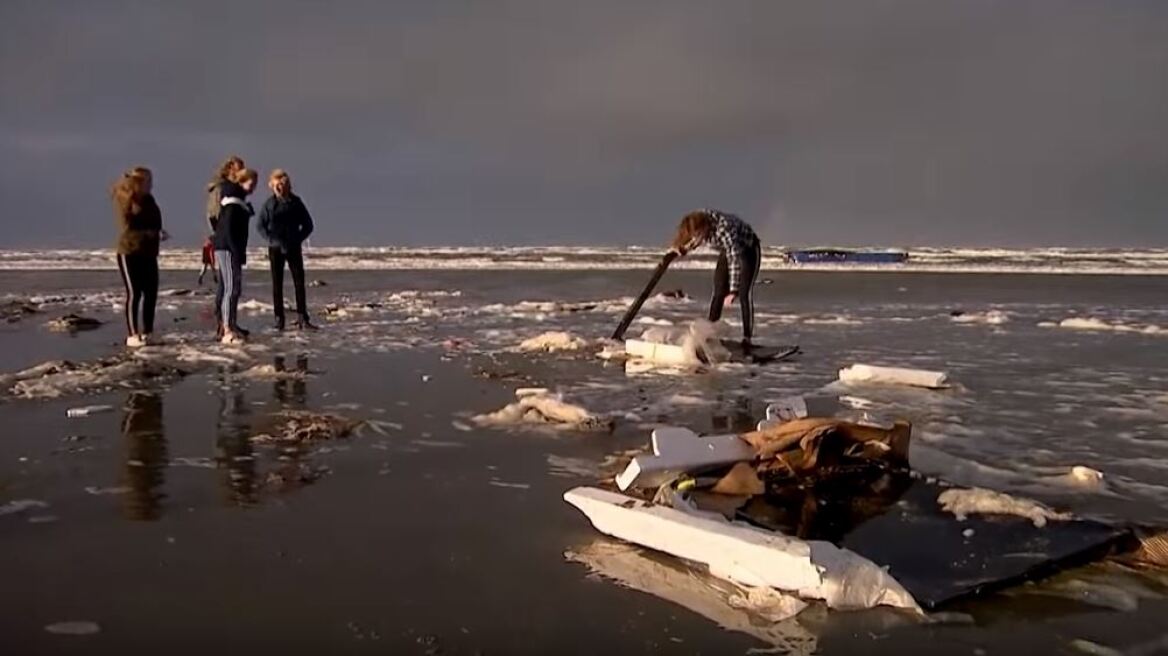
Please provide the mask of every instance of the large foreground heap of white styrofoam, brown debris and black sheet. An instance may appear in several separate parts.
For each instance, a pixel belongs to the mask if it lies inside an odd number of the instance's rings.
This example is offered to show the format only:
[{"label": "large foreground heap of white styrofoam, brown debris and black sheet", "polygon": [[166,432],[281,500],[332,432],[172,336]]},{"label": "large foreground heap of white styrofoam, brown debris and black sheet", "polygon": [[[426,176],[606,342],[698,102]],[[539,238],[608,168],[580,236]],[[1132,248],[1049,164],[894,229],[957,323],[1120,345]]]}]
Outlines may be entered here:
[{"label": "large foreground heap of white styrofoam, brown debris and black sheet", "polygon": [[705,565],[746,596],[830,608],[932,610],[1117,553],[1168,565],[1163,532],[918,475],[908,423],[807,417],[806,404],[769,417],[744,434],[658,428],[612,484],[564,498],[600,532]]}]

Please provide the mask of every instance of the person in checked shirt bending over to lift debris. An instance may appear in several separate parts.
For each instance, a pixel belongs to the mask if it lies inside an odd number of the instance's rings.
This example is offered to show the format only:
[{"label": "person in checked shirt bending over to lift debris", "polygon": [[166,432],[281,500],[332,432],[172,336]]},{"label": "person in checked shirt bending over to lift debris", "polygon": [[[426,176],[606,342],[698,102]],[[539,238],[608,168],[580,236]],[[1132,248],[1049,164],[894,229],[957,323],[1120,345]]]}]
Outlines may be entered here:
[{"label": "person in checked shirt bending over to lift debris", "polygon": [[742,344],[750,347],[755,334],[755,280],[763,264],[763,246],[749,223],[714,209],[687,214],[673,238],[673,250],[679,256],[704,244],[718,251],[710,321],[722,319],[723,306],[738,301],[742,307]]}]

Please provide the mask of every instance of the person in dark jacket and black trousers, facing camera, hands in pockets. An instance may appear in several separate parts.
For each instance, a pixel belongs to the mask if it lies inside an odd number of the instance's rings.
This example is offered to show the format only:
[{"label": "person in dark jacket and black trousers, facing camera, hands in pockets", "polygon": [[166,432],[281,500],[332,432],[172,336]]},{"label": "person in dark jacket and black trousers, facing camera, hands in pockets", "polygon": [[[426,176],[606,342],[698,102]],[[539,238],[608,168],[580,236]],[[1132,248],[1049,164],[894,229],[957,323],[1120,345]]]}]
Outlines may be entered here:
[{"label": "person in dark jacket and black trousers, facing camera, hands in pockets", "polygon": [[272,265],[272,306],[276,309],[276,329],[284,329],[284,265],[292,272],[296,288],[297,326],[315,330],[308,321],[308,303],[304,289],[305,239],[312,235],[313,224],[308,208],[300,196],[292,193],[292,179],[284,169],[276,169],[267,180],[272,197],[259,210],[259,235],[267,240],[267,259]]}]

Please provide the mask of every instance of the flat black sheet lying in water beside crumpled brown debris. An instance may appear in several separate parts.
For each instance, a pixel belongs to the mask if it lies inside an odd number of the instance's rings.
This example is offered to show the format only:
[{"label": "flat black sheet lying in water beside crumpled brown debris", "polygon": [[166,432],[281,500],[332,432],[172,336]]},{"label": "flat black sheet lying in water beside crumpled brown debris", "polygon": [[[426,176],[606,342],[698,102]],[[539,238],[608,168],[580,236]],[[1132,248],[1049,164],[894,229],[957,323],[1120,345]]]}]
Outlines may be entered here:
[{"label": "flat black sheet lying in water beside crumpled brown debris", "polygon": [[1110,554],[1132,532],[1072,519],[1036,528],[1024,517],[940,510],[944,488],[869,463],[769,488],[738,517],[802,539],[823,539],[882,567],[925,609],[1049,577]]}]

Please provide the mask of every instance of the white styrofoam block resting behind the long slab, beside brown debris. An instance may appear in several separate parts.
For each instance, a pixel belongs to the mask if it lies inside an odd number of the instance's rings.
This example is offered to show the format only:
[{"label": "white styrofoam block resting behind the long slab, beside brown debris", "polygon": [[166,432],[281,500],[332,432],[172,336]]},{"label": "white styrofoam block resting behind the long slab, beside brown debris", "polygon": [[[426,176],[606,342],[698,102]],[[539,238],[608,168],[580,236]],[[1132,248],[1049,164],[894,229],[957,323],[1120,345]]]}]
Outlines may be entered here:
[{"label": "white styrofoam block resting behind the long slab, beside brown debris", "polygon": [[757,455],[736,434],[701,438],[689,428],[673,426],[653,431],[651,445],[652,454],[638,455],[617,476],[618,488],[655,488],[687,472],[734,465]]}]

